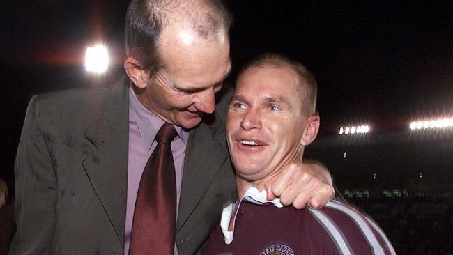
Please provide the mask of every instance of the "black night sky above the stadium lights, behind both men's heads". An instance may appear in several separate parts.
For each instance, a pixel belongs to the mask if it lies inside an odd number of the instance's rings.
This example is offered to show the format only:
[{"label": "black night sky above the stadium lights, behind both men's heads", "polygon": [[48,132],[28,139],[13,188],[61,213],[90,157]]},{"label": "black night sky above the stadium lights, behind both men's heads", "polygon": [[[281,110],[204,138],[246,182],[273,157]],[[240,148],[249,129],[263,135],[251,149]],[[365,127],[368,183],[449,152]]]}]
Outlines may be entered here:
[{"label": "black night sky above the stadium lights, behind both men's heads", "polygon": [[[344,123],[366,121],[385,133],[407,129],[408,121],[419,116],[453,114],[450,1],[228,3],[235,17],[233,75],[240,65],[266,51],[307,65],[318,79],[322,136],[335,134]],[[6,116],[1,126],[6,138],[5,172],[12,169],[31,95],[89,81],[82,65],[86,45],[100,37],[113,47],[119,64],[112,76],[121,75],[127,4],[3,3],[0,75],[2,115]]]}]

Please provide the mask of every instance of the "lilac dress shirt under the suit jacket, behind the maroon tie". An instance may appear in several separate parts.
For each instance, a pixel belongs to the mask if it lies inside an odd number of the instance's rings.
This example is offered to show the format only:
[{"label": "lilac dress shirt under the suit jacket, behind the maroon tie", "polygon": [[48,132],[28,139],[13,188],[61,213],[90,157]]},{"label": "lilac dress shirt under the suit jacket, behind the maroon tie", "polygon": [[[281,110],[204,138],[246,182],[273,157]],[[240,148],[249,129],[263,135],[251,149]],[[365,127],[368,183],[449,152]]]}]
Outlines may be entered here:
[{"label": "lilac dress shirt under the suit jacket, behind the maroon tie", "polygon": [[[151,111],[146,109],[132,89],[129,88],[129,157],[128,157],[128,199],[126,206],[124,254],[129,254],[130,233],[132,219],[134,218],[135,200],[139,190],[141,173],[145,168],[148,158],[157,146],[154,141],[164,121]],[[183,164],[185,148],[189,132],[181,127],[176,127],[178,136],[171,142],[171,153],[173,153],[176,172],[176,211],[178,211],[179,197],[181,194],[181,183],[183,180]],[[175,254],[178,254],[175,246]]]}]

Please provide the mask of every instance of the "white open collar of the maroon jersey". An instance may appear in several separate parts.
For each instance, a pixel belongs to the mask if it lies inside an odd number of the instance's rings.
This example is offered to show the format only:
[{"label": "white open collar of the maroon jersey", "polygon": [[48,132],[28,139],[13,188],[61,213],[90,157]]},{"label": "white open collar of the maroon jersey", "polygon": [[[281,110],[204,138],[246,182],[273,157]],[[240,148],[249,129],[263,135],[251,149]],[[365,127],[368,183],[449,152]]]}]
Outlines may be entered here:
[{"label": "white open collar of the maroon jersey", "polygon": [[[233,242],[233,235],[234,235],[234,224],[236,224],[236,215],[238,213],[238,208],[242,201],[247,201],[250,203],[255,203],[257,205],[263,205],[266,203],[272,203],[274,206],[278,208],[282,208],[283,205],[280,203],[279,198],[275,198],[272,201],[268,201],[266,199],[267,193],[266,190],[259,191],[256,187],[249,187],[248,190],[245,191],[243,197],[240,201],[236,201],[236,203],[230,203],[226,208],[223,209],[222,212],[222,219],[220,219],[220,228],[222,229],[222,233],[224,235],[225,243],[227,245]],[[233,222],[233,231],[228,230],[229,223],[231,221],[231,217],[234,216],[235,221]]]}]

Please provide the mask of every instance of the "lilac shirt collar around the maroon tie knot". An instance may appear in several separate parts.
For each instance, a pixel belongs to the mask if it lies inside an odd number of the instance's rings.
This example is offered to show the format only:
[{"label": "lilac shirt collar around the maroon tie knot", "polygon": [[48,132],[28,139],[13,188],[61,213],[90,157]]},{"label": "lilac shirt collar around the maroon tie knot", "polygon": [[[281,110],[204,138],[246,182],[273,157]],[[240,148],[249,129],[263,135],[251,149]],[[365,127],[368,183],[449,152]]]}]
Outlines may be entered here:
[{"label": "lilac shirt collar around the maroon tie knot", "polygon": [[[164,125],[164,121],[152,111],[146,109],[144,105],[141,105],[132,86],[134,85],[129,86],[129,118],[130,121],[137,124],[140,136],[145,141],[146,148],[151,149],[151,144],[153,144],[155,135],[160,130],[160,127]],[[189,132],[176,125],[174,125],[174,127],[178,137],[187,145]]]}]

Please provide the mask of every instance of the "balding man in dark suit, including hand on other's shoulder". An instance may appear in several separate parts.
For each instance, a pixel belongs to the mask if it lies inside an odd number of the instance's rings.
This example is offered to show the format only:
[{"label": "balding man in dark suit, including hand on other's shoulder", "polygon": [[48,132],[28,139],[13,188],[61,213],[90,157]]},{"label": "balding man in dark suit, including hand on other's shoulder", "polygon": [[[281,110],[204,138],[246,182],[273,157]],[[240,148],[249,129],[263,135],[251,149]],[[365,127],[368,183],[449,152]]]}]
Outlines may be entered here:
[{"label": "balding man in dark suit, including hand on other's shoulder", "polygon": [[[215,103],[231,69],[229,24],[215,0],[133,0],[128,79],[31,100],[10,254],[201,251],[236,197],[224,137],[229,90]],[[326,171],[302,164],[266,187],[270,199],[299,208],[333,194]]]}]

